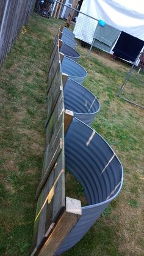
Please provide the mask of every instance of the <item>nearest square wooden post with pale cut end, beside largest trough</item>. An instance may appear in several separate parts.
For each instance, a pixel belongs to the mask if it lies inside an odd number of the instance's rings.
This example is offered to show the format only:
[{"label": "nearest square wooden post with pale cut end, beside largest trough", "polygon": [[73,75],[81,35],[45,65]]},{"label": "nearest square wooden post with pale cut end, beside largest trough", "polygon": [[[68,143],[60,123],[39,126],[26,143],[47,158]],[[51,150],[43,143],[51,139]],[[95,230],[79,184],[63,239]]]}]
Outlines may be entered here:
[{"label": "nearest square wooden post with pale cut end, beside largest trough", "polygon": [[60,244],[65,240],[68,233],[81,218],[81,201],[66,197],[66,208],[59,218],[56,226],[49,235],[38,256],[52,256],[59,249]]}]

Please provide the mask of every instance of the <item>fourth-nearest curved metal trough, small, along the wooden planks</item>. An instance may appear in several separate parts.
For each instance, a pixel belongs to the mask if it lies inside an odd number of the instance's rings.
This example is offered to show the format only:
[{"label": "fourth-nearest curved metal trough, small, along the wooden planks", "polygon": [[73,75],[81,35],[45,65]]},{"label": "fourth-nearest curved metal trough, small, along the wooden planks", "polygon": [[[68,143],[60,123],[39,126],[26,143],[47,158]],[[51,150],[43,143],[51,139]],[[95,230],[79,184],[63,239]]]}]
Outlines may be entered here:
[{"label": "fourth-nearest curved metal trough, small, along the wooden planks", "polygon": [[78,61],[80,58],[80,54],[73,49],[71,46],[67,45],[67,43],[62,43],[62,46],[60,47],[60,53],[65,54],[66,57],[74,60],[74,61]]}]

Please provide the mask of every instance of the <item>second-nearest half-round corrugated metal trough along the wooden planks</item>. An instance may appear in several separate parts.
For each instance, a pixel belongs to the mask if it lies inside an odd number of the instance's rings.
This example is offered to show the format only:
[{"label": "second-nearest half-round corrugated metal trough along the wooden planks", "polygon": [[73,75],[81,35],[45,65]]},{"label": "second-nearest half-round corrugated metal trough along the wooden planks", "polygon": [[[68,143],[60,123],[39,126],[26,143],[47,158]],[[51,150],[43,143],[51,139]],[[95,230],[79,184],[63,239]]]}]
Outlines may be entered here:
[{"label": "second-nearest half-round corrugated metal trough along the wooden planks", "polygon": [[95,95],[78,82],[68,78],[64,87],[65,109],[74,112],[74,117],[90,125],[100,109]]}]

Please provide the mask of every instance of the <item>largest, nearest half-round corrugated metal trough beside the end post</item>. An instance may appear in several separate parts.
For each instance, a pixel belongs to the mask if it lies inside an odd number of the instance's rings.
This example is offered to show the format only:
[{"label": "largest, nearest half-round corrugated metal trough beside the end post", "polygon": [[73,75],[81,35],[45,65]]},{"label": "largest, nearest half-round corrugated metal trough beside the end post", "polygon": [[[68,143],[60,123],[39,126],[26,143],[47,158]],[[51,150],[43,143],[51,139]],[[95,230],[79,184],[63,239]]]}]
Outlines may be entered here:
[{"label": "largest, nearest half-round corrugated metal trough beside the end post", "polygon": [[74,118],[65,136],[65,166],[84,186],[88,206],[56,255],[73,247],[87,233],[123,184],[123,167],[98,133]]}]

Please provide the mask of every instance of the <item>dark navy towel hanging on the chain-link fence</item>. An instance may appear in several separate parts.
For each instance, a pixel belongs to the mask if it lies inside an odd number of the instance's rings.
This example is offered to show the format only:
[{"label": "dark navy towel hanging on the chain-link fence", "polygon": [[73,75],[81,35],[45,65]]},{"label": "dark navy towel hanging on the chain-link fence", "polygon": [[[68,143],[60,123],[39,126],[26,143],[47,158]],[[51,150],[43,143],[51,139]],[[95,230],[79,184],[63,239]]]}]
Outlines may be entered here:
[{"label": "dark navy towel hanging on the chain-link fence", "polygon": [[143,45],[143,40],[122,31],[115,47],[112,50],[118,57],[134,62],[142,50]]}]

